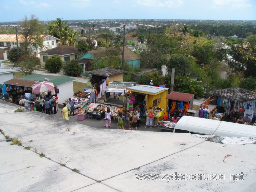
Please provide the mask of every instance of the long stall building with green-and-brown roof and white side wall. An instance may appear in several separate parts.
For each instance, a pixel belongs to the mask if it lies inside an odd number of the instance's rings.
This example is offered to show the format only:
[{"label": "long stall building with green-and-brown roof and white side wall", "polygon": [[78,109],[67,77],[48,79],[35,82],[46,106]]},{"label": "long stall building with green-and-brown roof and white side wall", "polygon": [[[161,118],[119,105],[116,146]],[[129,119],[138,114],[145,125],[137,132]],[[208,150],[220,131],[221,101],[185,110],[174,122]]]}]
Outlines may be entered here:
[{"label": "long stall building with green-and-brown roof and white side wall", "polygon": [[33,74],[21,77],[14,77],[11,80],[4,82],[6,85],[19,86],[24,90],[31,89],[32,85],[37,82],[48,81],[53,83],[54,87],[59,89],[58,98],[59,103],[62,104],[66,99],[73,97],[73,81],[75,79],[65,76],[57,75],[42,75],[42,74]]}]

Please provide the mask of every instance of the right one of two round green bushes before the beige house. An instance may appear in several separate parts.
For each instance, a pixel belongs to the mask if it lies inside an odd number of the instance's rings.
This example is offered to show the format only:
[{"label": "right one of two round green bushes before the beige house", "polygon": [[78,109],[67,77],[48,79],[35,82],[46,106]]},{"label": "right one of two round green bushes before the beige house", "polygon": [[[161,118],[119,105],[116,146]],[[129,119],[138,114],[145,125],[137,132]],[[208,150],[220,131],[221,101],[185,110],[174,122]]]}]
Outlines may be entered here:
[{"label": "right one of two round green bushes before the beige house", "polygon": [[77,60],[71,60],[64,64],[64,74],[79,77],[83,72],[83,67],[80,65]]}]

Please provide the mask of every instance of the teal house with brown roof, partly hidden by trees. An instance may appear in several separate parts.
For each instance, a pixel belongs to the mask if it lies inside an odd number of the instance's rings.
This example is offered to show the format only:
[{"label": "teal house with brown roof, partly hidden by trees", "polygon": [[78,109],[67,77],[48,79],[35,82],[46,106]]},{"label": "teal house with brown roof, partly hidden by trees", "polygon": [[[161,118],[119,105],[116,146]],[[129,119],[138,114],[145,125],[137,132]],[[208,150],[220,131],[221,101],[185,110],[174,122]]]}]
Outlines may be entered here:
[{"label": "teal house with brown roof, partly hidden by trees", "polygon": [[[107,57],[106,49],[97,49],[87,51],[85,54],[77,58],[78,63],[83,66],[83,72],[86,72],[86,63],[91,60],[97,60]],[[122,59],[122,50],[120,49],[120,58]],[[140,58],[137,54],[130,51],[127,47],[124,48],[124,61],[133,69],[140,68]]]}]

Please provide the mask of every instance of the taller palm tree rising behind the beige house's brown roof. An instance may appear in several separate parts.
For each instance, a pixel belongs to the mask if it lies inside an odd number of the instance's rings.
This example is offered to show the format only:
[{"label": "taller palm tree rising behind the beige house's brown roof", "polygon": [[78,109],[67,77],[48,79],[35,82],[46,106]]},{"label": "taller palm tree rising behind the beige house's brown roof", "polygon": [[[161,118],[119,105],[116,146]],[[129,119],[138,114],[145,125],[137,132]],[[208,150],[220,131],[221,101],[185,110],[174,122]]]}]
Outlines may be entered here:
[{"label": "taller palm tree rising behind the beige house's brown roof", "polygon": [[60,45],[61,45],[62,38],[64,37],[64,30],[67,27],[66,23],[67,23],[66,21],[63,21],[62,19],[57,18],[51,23],[51,26],[49,27],[50,35],[56,34],[60,39]]}]

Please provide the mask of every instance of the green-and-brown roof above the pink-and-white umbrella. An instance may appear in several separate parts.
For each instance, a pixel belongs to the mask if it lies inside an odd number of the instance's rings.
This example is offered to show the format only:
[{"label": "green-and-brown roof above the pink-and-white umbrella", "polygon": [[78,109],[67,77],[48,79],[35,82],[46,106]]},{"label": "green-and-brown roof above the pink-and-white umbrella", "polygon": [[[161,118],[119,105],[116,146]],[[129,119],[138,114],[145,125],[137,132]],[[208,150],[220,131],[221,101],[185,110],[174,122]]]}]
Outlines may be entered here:
[{"label": "green-and-brown roof above the pink-and-white umbrella", "polygon": [[45,78],[49,79],[49,82],[52,82],[54,86],[58,86],[58,85],[75,80],[74,78],[71,78],[71,77],[33,74],[33,75],[27,75],[22,77],[15,77],[4,83],[11,84],[11,85],[31,87],[35,83],[35,81],[42,82],[42,81],[45,81]]}]

